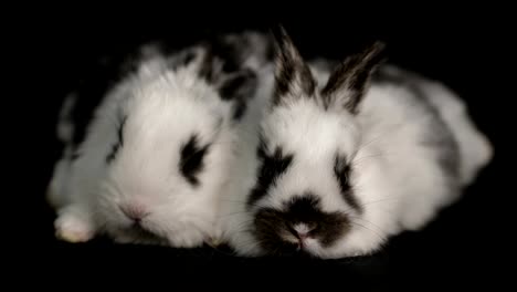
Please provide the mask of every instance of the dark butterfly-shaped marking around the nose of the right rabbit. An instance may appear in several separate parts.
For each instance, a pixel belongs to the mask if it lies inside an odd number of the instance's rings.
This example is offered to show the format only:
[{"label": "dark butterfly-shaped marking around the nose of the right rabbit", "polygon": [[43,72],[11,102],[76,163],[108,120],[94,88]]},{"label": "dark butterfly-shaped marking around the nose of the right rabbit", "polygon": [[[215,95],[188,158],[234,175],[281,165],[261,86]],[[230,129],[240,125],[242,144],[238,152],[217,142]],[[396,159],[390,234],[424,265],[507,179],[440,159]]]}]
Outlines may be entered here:
[{"label": "dark butterfly-shaped marking around the nose of the right rabbit", "polygon": [[296,253],[299,251],[299,244],[287,241],[285,236],[298,238],[294,229],[298,223],[307,226],[307,236],[317,239],[325,248],[335,243],[350,228],[346,215],[321,211],[319,199],[307,192],[285,202],[282,210],[260,209],[254,218],[253,234],[266,253]]}]

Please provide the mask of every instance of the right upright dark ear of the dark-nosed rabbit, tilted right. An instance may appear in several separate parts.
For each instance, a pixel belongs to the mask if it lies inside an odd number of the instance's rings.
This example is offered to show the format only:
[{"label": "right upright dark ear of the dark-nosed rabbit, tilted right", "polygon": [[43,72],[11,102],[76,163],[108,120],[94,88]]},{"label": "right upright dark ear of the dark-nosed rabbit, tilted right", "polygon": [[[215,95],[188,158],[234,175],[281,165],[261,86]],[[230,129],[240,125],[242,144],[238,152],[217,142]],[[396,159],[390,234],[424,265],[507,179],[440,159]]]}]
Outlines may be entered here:
[{"label": "right upright dark ear of the dark-nosed rabbit, tilted right", "polygon": [[327,107],[338,105],[357,113],[371,73],[383,61],[384,46],[384,43],[376,42],[362,53],[347,58],[335,69],[321,90]]}]

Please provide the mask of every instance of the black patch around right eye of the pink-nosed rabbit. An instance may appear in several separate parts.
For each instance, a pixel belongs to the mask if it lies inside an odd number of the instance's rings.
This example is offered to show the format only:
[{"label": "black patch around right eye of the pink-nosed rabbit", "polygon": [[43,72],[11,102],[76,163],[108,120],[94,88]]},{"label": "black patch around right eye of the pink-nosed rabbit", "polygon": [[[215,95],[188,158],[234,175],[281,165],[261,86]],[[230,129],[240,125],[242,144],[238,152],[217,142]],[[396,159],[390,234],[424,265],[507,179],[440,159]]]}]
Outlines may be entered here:
[{"label": "black patch around right eye of the pink-nosed rabbit", "polygon": [[181,147],[180,170],[183,177],[192,185],[198,186],[197,175],[203,168],[203,157],[210,145],[199,146],[198,136],[192,135],[187,144]]}]

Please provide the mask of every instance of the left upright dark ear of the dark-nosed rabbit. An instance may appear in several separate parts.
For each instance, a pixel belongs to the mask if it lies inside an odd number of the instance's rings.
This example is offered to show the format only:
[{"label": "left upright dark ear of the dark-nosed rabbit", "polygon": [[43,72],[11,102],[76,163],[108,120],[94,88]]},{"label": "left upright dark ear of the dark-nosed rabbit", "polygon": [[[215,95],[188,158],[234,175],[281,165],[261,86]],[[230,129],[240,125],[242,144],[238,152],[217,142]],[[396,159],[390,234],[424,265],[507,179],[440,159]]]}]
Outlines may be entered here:
[{"label": "left upright dark ear of the dark-nosed rabbit", "polygon": [[275,93],[273,105],[288,98],[313,96],[316,81],[283,27],[272,30],[275,40]]}]

